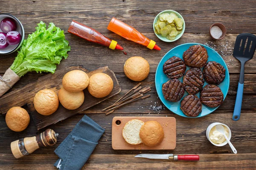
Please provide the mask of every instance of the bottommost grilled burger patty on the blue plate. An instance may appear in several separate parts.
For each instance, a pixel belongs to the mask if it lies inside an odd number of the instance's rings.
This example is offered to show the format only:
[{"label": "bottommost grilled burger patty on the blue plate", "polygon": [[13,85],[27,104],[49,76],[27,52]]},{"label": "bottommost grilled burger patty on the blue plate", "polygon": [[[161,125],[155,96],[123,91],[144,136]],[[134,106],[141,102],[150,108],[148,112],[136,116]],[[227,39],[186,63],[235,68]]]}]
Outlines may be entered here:
[{"label": "bottommost grilled burger patty on the blue plate", "polygon": [[180,109],[186,116],[198,116],[202,111],[202,102],[195,95],[187,95],[180,102]]}]

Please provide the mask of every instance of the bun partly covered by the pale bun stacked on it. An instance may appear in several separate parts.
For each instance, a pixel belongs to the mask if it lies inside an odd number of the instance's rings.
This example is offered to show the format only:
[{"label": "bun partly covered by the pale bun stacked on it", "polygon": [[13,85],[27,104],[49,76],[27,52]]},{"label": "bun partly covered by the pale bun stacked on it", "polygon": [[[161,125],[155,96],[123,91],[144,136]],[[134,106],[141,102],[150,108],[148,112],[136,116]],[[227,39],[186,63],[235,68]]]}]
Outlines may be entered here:
[{"label": "bun partly covered by the pale bun stacked on it", "polygon": [[75,110],[79,108],[84,102],[84,92],[70,92],[64,87],[58,92],[58,98],[64,108],[69,110]]}]

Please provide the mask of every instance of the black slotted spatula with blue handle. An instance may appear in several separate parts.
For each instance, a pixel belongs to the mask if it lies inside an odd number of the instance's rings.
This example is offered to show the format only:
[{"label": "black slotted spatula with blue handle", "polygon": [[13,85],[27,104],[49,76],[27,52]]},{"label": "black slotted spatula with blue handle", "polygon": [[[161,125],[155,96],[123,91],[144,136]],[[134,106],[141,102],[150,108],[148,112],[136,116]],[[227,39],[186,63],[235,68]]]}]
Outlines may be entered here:
[{"label": "black slotted spatula with blue handle", "polygon": [[241,62],[240,78],[236,94],[236,104],[233,112],[233,120],[240,118],[244,91],[244,64],[253,58],[256,48],[256,36],[250,33],[239,34],[236,37],[233,56]]}]

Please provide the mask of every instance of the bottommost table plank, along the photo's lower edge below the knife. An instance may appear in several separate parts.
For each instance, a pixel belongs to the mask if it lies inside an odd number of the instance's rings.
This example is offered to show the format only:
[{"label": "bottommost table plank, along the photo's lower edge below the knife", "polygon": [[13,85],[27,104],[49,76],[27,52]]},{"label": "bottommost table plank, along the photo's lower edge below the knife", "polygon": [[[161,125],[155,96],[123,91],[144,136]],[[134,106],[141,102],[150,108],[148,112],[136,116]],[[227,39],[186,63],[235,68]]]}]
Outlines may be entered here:
[{"label": "bottommost table plank, along the photo's lower edge below the knife", "polygon": [[[0,154],[0,169],[5,170],[56,170],[55,154],[31,154],[15,159],[12,154]],[[170,161],[134,158],[135,155],[91,155],[83,170],[255,170],[255,153],[252,154],[200,154],[199,161]],[[40,163],[40,164],[39,164]]]}]

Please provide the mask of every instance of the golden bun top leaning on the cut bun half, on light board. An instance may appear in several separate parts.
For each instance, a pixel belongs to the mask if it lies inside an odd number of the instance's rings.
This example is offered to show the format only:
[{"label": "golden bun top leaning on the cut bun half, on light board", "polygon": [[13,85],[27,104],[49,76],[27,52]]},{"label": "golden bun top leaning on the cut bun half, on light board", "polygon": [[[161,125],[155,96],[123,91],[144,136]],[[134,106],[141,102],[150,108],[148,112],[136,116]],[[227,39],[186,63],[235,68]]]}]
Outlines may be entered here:
[{"label": "golden bun top leaning on the cut bun half, on light board", "polygon": [[140,139],[147,146],[157,146],[163,137],[163,127],[157,121],[145,122],[140,128]]}]

